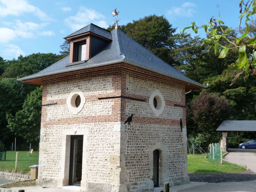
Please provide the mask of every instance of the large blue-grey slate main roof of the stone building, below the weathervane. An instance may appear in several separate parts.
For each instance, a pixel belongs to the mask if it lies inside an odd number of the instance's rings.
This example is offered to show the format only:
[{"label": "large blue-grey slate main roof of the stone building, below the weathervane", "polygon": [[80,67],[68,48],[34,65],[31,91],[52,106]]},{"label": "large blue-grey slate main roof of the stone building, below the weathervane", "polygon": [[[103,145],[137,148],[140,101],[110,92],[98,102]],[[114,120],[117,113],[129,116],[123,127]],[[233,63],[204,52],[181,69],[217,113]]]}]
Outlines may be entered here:
[{"label": "large blue-grey slate main roof of the stone building, below the weathervane", "polygon": [[171,76],[175,79],[188,82],[189,84],[194,84],[206,88],[205,85],[199,84],[196,81],[189,79],[188,77],[181,74],[178,70],[172,68],[170,65],[148,51],[142,45],[134,41],[131,37],[127,36],[121,30],[112,30],[111,37],[112,41],[110,41],[102,49],[101,52],[87,60],[85,63],[65,67],[65,65],[69,63],[69,56],[67,56],[36,74],[26,76],[18,80],[24,81],[36,77],[125,62],[154,71],[156,73]]}]

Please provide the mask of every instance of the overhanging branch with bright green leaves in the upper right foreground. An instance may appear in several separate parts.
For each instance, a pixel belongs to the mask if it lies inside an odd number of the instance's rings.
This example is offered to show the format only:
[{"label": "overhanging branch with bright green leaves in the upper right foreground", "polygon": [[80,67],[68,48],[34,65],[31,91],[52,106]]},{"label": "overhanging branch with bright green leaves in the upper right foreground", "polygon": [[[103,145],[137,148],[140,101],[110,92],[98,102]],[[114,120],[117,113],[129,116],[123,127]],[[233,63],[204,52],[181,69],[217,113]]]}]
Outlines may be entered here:
[{"label": "overhanging branch with bright green leaves in the upper right foreground", "polygon": [[[256,36],[251,36],[254,33],[252,33],[253,30],[250,30],[250,26],[251,28],[256,27],[255,19],[253,19],[256,13],[255,0],[249,0],[247,3],[241,0],[239,7],[241,15],[239,17],[238,31],[241,36],[232,34],[231,27],[223,28],[224,22],[220,19],[220,16],[219,19],[213,19],[212,17],[209,23],[202,25],[207,34],[207,38],[203,39],[203,43],[210,44],[209,51],[214,47],[215,55],[219,55],[218,58],[225,58],[231,50],[237,52],[237,60],[232,63],[237,73],[230,86],[244,73],[256,75]],[[241,28],[243,19],[246,26],[245,30]],[[217,32],[217,26],[221,29],[220,33]],[[197,33],[199,27],[196,26],[195,22],[192,22],[190,27],[183,29],[183,33],[188,28]],[[249,33],[249,31],[251,32]],[[223,39],[228,42],[228,46],[221,43]]]}]

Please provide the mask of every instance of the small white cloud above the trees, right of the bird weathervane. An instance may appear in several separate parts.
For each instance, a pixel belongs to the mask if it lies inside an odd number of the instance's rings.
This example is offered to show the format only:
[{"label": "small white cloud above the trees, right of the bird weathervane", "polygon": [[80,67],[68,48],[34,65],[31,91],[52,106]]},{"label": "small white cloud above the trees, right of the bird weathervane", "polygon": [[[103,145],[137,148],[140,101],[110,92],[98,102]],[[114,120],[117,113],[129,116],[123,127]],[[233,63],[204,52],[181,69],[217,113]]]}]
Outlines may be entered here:
[{"label": "small white cloud above the trees, right of the bird weathervane", "polygon": [[167,15],[171,17],[192,17],[196,10],[194,10],[196,4],[185,2],[180,7],[171,7],[170,10],[167,11]]}]

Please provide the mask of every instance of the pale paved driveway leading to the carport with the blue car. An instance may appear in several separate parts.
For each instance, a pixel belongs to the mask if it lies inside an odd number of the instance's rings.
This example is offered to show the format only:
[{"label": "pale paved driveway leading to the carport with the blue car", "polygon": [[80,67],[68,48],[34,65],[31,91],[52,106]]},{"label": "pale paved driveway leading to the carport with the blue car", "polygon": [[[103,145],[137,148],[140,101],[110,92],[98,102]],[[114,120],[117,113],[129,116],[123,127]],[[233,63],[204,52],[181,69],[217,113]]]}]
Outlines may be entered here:
[{"label": "pale paved driveway leading to the carport with the blue car", "polygon": [[229,152],[224,159],[230,163],[246,165],[247,168],[256,173],[256,153]]}]

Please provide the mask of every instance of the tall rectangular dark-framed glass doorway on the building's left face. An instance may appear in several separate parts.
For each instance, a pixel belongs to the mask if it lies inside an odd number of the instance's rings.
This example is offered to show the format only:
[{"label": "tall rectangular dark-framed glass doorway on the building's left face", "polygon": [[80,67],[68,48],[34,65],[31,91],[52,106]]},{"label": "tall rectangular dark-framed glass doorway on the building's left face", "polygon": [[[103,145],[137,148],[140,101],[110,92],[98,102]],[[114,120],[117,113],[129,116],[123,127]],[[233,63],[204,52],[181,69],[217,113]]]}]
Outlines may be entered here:
[{"label": "tall rectangular dark-framed glass doorway on the building's left face", "polygon": [[81,186],[83,135],[71,135],[68,185]]}]

